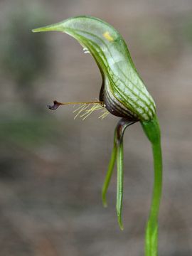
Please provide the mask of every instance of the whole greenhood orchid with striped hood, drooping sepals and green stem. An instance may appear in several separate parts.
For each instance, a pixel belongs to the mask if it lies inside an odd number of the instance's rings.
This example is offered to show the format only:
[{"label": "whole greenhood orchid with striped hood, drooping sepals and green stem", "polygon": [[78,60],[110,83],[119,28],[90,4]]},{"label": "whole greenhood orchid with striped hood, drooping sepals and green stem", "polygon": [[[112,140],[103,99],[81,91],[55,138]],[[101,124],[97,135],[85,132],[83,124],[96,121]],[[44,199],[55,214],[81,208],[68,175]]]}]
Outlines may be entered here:
[{"label": "whole greenhood orchid with striped hood, drooping sepals and green stem", "polygon": [[[99,101],[81,102],[84,110],[94,104],[92,110],[103,108],[105,111],[121,117],[114,130],[114,146],[102,188],[102,201],[107,206],[106,193],[117,162],[117,219],[122,225],[123,197],[123,136],[124,130],[135,122],[140,122],[146,137],[151,142],[154,156],[154,189],[149,220],[146,225],[145,255],[158,254],[158,215],[162,186],[161,135],[156,106],[139,77],[129,50],[122,36],[105,21],[90,16],[68,18],[60,23],[33,29],[33,32],[61,31],[73,36],[95,59],[102,75]],[[48,106],[55,110],[59,105],[77,104],[78,102],[54,102]],[[81,109],[82,110],[82,109]],[[80,111],[81,111],[80,110]],[[90,110],[85,110],[89,115]]]}]

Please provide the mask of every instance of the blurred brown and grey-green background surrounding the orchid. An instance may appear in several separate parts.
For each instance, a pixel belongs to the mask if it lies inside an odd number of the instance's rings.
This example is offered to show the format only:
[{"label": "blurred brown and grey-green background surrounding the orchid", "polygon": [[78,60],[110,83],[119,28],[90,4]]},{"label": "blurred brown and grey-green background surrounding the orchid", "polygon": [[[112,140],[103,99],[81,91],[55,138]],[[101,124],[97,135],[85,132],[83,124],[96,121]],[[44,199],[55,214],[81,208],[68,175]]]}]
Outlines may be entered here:
[{"label": "blurred brown and grey-green background surrounding the orchid", "polygon": [[87,14],[122,33],[162,129],[159,255],[192,255],[192,1],[0,1],[0,255],[144,255],[153,169],[139,124],[124,137],[124,231],[100,191],[118,118],[73,119],[53,100],[95,100],[100,73],[62,33],[31,28]]}]

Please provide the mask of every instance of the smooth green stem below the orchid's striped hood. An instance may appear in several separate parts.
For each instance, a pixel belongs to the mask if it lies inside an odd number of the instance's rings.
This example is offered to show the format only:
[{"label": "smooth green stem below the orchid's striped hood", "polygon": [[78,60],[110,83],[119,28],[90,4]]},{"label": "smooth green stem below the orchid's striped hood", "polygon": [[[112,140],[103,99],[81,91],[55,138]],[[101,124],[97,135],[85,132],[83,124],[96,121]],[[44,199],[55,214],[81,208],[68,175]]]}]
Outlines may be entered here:
[{"label": "smooth green stem below the orchid's striped hood", "polygon": [[154,188],[151,200],[149,220],[146,225],[145,255],[158,255],[158,216],[162,190],[162,155],[161,135],[157,117],[150,122],[143,122],[142,127],[151,142],[154,156]]}]

